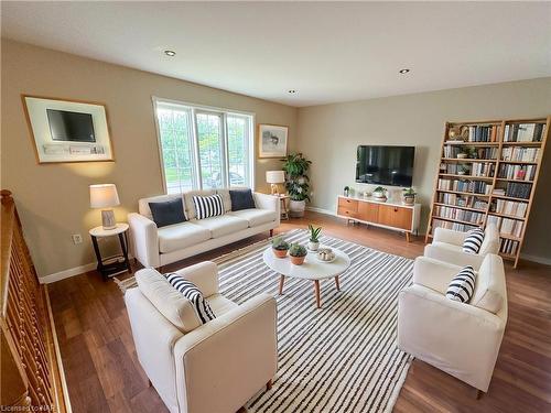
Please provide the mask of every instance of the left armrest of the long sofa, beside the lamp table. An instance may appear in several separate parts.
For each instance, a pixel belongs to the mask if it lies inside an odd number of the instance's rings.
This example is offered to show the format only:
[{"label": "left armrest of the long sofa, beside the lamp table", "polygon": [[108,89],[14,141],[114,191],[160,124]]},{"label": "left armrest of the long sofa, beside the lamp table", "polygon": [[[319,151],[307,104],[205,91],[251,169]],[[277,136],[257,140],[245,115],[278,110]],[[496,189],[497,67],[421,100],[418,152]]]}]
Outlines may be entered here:
[{"label": "left armrest of the long sofa, beside the lamp table", "polygon": [[140,214],[128,214],[128,225],[132,237],[133,256],[145,268],[161,265],[159,259],[159,235],[156,225]]}]

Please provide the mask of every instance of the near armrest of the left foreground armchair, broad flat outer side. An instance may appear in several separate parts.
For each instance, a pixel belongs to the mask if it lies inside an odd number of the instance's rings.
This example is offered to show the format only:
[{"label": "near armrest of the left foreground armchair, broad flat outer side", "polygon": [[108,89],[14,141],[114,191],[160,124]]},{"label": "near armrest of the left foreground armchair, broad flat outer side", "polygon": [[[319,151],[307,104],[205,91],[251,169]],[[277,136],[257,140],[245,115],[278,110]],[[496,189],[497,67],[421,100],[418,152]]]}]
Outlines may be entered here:
[{"label": "near armrest of the left foreground armchair, broad flat outer side", "polygon": [[278,368],[276,300],[258,295],[186,334],[174,359],[181,411],[239,410]]}]

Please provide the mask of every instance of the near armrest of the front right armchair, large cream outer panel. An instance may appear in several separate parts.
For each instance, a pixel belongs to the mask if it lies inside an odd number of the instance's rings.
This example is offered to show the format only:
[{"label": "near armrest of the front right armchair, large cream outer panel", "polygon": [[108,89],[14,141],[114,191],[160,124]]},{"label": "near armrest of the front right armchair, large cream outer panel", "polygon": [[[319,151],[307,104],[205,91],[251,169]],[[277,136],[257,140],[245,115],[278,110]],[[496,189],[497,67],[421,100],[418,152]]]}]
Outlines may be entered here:
[{"label": "near armrest of the front right armchair, large cream outer panel", "polygon": [[487,391],[506,320],[421,285],[400,292],[398,347]]}]

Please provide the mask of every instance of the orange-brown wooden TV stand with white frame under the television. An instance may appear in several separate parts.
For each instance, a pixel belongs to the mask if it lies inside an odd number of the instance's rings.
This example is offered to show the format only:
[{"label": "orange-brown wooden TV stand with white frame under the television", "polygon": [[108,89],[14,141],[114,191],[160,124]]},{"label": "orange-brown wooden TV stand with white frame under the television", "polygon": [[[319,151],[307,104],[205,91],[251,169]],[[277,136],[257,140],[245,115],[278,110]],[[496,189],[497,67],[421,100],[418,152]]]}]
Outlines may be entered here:
[{"label": "orange-brown wooden TV stand with white frame under the television", "polygon": [[375,198],[337,197],[337,216],[353,221],[375,225],[410,233],[419,229],[421,204],[403,205],[401,202],[380,202]]}]

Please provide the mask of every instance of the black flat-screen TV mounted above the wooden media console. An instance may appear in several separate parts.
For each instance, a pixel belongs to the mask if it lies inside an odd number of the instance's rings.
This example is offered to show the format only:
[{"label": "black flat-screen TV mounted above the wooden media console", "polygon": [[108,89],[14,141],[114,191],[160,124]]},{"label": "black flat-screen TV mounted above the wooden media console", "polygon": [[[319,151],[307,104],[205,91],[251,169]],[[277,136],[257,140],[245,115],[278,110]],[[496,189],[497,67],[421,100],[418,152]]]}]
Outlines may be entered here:
[{"label": "black flat-screen TV mounted above the wooden media console", "polygon": [[359,145],[356,182],[392,186],[411,186],[414,146]]}]

